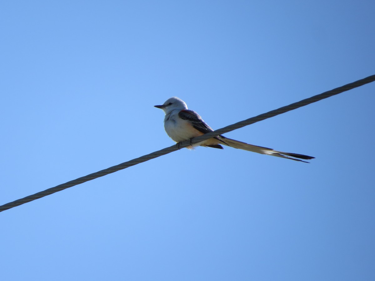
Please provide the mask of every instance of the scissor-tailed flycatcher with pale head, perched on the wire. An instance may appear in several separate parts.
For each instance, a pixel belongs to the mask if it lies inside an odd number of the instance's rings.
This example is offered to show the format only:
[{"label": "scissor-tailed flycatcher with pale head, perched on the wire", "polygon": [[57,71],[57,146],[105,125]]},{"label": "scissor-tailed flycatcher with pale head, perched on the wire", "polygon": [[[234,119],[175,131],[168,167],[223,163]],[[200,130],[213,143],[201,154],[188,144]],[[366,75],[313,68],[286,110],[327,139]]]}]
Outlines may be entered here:
[{"label": "scissor-tailed flycatcher with pale head, perched on the wire", "polygon": [[[213,129],[211,129],[211,127],[203,121],[202,117],[200,117],[198,113],[196,113],[195,111],[187,109],[186,103],[178,97],[171,97],[165,103],[163,103],[163,105],[155,105],[155,107],[161,108],[165,112],[165,132],[175,142],[186,141],[188,139],[204,135],[205,133],[213,132]],[[193,146],[201,145],[223,149],[223,147],[220,144],[252,152],[258,152],[261,154],[287,158],[295,161],[302,161],[296,158],[315,158],[308,155],[281,152],[267,147],[251,145],[245,142],[235,141],[234,139],[228,139],[224,136],[216,136],[206,141],[198,142]],[[190,145],[187,146],[187,148],[192,149],[193,146]],[[306,161],[302,162],[309,163]]]}]

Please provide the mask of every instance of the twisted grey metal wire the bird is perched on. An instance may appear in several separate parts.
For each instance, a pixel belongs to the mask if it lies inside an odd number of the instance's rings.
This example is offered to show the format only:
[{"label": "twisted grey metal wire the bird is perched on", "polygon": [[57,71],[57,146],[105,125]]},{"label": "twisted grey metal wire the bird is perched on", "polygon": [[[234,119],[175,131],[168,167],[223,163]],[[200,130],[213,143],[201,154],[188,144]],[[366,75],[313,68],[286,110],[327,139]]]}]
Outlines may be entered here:
[{"label": "twisted grey metal wire the bird is perched on", "polygon": [[240,121],[238,123],[226,126],[222,129],[215,130],[211,133],[207,133],[205,135],[193,138],[191,141],[190,140],[183,141],[183,142],[178,143],[178,145],[172,145],[172,146],[169,146],[167,148],[161,149],[159,151],[155,151],[155,152],[152,152],[150,154],[135,158],[133,160],[118,164],[116,166],[109,167],[108,169],[104,169],[104,170],[101,170],[99,172],[92,173],[90,175],[83,176],[83,177],[78,178],[78,179],[74,179],[72,181],[68,181],[65,184],[60,184],[60,185],[57,185],[55,187],[48,188],[44,191],[40,191],[40,192],[35,193],[33,195],[30,195],[30,196],[26,196],[22,199],[18,199],[18,200],[15,200],[13,202],[6,203],[6,204],[0,206],[0,212],[5,211],[5,210],[10,209],[10,208],[13,208],[15,206],[22,205],[22,204],[27,203],[27,202],[33,201],[35,199],[42,198],[42,197],[47,196],[49,194],[64,190],[64,189],[72,187],[74,185],[82,184],[84,182],[91,181],[92,179],[96,179],[96,178],[99,178],[101,176],[105,176],[105,175],[108,175],[110,173],[114,173],[114,172],[117,172],[119,170],[126,169],[127,167],[134,166],[136,164],[139,164],[139,163],[151,160],[153,158],[168,154],[170,152],[176,151],[178,149],[184,148],[184,147],[189,146],[191,144],[195,144],[195,143],[204,141],[206,139],[212,138],[213,136],[222,135],[223,133],[228,133],[230,131],[242,128],[244,126],[254,124],[256,122],[259,122],[259,121],[265,120],[267,118],[270,118],[270,117],[273,117],[273,116],[291,111],[291,110],[296,109],[296,108],[300,108],[300,107],[308,105],[310,103],[318,102],[319,100],[326,99],[327,97],[331,97],[331,96],[340,94],[342,92],[351,90],[353,88],[360,87],[362,85],[365,85],[365,84],[368,84],[368,83],[374,82],[374,81],[375,81],[375,75],[371,75],[371,76],[368,76],[364,79],[361,79],[361,80],[358,80],[356,82],[353,82],[353,83],[335,88],[333,90],[324,92],[322,94],[318,94],[318,95],[310,97],[308,99],[304,99],[304,100],[301,100],[299,102],[292,103],[290,105],[287,105],[287,106],[269,111],[267,113],[260,114],[258,116]]}]

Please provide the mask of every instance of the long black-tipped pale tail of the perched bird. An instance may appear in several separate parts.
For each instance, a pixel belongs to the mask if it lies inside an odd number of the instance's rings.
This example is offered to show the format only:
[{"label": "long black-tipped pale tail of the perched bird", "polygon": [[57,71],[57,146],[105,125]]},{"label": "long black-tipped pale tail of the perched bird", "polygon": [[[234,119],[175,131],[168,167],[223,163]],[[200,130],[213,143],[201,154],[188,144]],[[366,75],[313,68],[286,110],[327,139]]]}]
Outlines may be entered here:
[{"label": "long black-tipped pale tail of the perched bird", "polygon": [[[309,163],[307,161],[303,161],[303,160],[296,159],[296,158],[301,158],[301,159],[306,159],[306,160],[315,158],[315,157],[308,156],[308,155],[296,154],[296,153],[290,153],[290,152],[282,152],[282,151],[273,150],[272,148],[252,145],[252,144],[249,144],[249,143],[246,143],[246,142],[240,142],[240,141],[236,141],[234,139],[228,139],[228,138],[225,138],[224,136],[219,136],[219,138],[220,138],[220,141],[222,141],[221,144],[223,144],[223,145],[228,145],[228,146],[231,146],[231,147],[234,147],[234,148],[244,149],[244,150],[247,150],[247,151],[257,152],[257,153],[261,153],[261,154],[267,154],[267,155],[272,155],[272,156],[276,156],[276,157],[287,158],[287,159],[291,159],[291,160],[294,160],[294,161],[301,161],[301,162]],[[296,157],[296,158],[293,158],[293,157]]]}]

